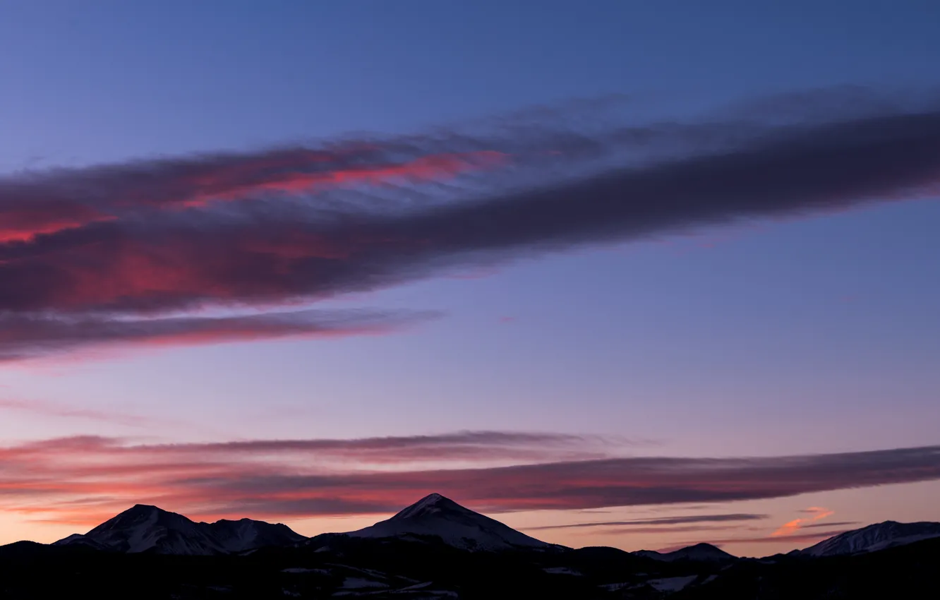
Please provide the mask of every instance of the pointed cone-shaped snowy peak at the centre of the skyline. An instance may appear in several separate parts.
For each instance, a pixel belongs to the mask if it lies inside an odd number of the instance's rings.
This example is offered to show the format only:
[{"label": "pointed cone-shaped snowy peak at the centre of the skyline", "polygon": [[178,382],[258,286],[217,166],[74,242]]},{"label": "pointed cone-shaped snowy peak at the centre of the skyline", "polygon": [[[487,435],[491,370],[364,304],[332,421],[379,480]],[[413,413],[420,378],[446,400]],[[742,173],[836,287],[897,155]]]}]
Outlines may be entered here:
[{"label": "pointed cone-shaped snowy peak at the centre of the skyline", "polygon": [[464,550],[556,547],[474,513],[440,494],[423,497],[390,519],[347,535],[354,538],[430,536]]}]

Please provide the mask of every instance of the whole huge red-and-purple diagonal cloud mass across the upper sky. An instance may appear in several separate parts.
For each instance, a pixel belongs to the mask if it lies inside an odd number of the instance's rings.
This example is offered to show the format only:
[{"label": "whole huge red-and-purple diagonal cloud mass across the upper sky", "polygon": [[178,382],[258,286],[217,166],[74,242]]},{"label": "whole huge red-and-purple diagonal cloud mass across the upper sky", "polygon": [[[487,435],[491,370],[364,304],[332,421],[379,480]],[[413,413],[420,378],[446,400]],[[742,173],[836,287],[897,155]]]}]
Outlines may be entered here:
[{"label": "whole huge red-and-purple diagonal cloud mass across the upper sky", "polygon": [[[853,104],[842,92],[816,95]],[[315,303],[583,245],[936,193],[935,106],[823,114],[819,103],[790,95],[746,121],[592,131],[504,121],[476,134],[7,176],[0,318],[93,324],[99,331],[83,334],[87,345],[121,337],[111,331],[127,330],[125,320],[155,330],[169,326],[158,321],[167,315],[197,309]],[[768,113],[775,107],[782,117]],[[263,319],[238,319],[251,331],[213,322],[206,333],[194,318],[139,338],[285,335]],[[11,327],[25,337],[0,338],[2,352],[71,351],[56,337],[61,328],[39,327],[52,332],[43,340],[37,329]]]}]

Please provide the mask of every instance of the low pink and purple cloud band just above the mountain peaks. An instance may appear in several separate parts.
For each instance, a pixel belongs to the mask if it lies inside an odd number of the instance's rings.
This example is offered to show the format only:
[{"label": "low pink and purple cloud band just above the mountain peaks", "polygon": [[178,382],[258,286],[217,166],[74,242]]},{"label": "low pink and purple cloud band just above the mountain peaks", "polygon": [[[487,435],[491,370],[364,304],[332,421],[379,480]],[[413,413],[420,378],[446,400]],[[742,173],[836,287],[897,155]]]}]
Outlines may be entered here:
[{"label": "low pink and purple cloud band just above the mountain peaks", "polygon": [[722,459],[619,451],[599,438],[492,432],[180,445],[53,439],[0,449],[0,509],[75,518],[70,502],[106,499],[102,506],[113,511],[146,502],[184,513],[297,518],[392,513],[440,492],[499,513],[791,497],[940,479],[940,447]]}]

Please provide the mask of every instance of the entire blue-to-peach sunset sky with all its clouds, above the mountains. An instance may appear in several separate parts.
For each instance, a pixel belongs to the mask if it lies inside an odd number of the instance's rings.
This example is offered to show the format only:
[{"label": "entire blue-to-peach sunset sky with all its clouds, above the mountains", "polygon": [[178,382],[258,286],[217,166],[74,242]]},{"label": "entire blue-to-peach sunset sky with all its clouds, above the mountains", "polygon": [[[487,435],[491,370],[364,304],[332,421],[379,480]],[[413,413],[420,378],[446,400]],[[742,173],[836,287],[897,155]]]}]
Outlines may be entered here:
[{"label": "entire blue-to-peach sunset sky with all its clouds, above the mountains", "polygon": [[0,0],[0,544],[940,520],[938,19]]}]

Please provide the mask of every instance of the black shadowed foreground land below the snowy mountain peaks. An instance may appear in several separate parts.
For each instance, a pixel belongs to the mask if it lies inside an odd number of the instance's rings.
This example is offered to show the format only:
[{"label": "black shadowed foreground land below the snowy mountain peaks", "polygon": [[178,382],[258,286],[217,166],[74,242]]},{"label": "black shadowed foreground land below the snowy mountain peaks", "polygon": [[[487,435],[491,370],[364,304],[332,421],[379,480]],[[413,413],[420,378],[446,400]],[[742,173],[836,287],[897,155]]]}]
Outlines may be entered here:
[{"label": "black shadowed foreground land below the snowy mountain peaks", "polygon": [[247,555],[0,546],[0,598],[936,598],[940,538],[856,556],[655,561],[613,548],[470,552],[326,534]]}]

